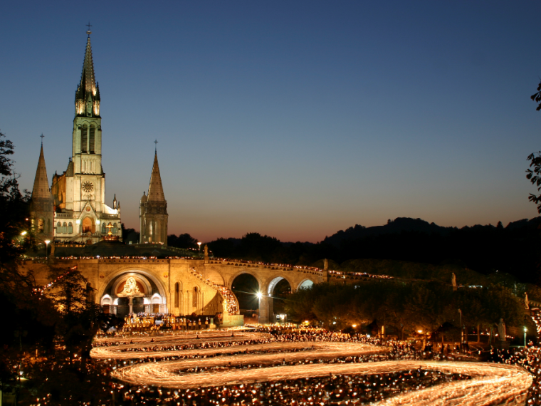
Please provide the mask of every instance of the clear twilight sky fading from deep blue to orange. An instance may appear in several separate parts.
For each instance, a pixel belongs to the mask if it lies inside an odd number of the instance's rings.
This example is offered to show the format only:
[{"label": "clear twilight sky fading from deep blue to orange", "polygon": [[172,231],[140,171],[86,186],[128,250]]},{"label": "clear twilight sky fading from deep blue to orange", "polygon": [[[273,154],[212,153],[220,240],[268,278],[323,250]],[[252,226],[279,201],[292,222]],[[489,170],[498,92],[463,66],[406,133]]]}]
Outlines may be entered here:
[{"label": "clear twilight sky fading from deep blue to orange", "polygon": [[169,233],[320,241],[354,224],[537,216],[538,1],[9,1],[0,129],[31,189],[68,165],[93,25],[107,201],[139,229],[154,139]]}]

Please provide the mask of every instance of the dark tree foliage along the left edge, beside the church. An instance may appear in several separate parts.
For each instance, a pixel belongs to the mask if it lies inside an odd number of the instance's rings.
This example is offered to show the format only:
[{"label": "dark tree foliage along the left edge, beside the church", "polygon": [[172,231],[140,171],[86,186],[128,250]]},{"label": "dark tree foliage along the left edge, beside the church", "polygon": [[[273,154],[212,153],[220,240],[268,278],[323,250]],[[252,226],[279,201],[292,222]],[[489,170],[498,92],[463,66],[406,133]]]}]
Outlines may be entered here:
[{"label": "dark tree foliage along the left edge, beside the church", "polygon": [[[21,273],[22,254],[35,244],[28,222],[29,196],[19,191],[11,160],[14,146],[3,138],[0,133],[0,307],[4,316],[0,387],[15,389],[19,403],[25,405],[48,394],[56,404],[88,402],[98,395],[89,392],[93,385],[103,392],[101,382],[108,379],[90,374],[86,360],[91,340],[100,326],[119,321],[94,305],[93,289],[76,269],[43,263],[51,270],[51,281],[56,280],[47,292],[51,295],[36,290],[39,286],[32,274]],[[30,378],[25,385],[18,379],[19,371]]]}]

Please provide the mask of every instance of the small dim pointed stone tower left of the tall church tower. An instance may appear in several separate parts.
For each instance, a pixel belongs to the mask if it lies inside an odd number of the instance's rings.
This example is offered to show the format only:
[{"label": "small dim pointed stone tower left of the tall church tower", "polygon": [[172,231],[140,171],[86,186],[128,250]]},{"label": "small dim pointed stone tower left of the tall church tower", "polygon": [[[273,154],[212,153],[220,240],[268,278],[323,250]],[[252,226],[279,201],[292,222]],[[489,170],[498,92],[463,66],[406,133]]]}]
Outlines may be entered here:
[{"label": "small dim pointed stone tower left of the tall church tower", "polygon": [[36,170],[30,202],[31,227],[38,240],[53,240],[53,204],[53,194],[49,189],[45,157],[43,157],[43,142],[41,142],[38,169]]}]

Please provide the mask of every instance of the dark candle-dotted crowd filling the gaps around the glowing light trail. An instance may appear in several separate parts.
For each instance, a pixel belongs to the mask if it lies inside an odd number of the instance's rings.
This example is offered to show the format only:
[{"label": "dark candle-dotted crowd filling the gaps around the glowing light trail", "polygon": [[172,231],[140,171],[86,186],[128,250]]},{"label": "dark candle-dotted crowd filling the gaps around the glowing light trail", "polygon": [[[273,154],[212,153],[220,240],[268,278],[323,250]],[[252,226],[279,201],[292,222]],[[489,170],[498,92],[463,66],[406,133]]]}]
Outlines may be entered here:
[{"label": "dark candle-dotted crowd filling the gaps around the glowing light trail", "polygon": [[[164,315],[164,318],[167,318]],[[164,320],[162,318],[162,320]],[[541,318],[535,313],[534,321],[541,328]],[[129,351],[167,351],[197,348],[219,348],[232,345],[256,345],[261,343],[310,343],[310,342],[341,342],[366,343],[372,345],[386,345],[389,351],[358,357],[337,357],[329,360],[318,360],[319,363],[368,363],[382,360],[421,360],[421,359],[454,359],[461,356],[480,356],[478,350],[460,350],[448,345],[427,343],[414,345],[400,340],[386,340],[384,338],[369,337],[367,335],[350,335],[337,331],[329,331],[314,327],[296,327],[294,325],[251,326],[253,330],[268,333],[259,339],[238,338],[234,343],[201,342],[187,343],[186,345],[147,345],[129,349]],[[228,333],[229,334],[229,330]],[[190,332],[191,333],[191,332]],[[191,333],[196,334],[196,332]],[[234,335],[232,332],[231,335]],[[240,335],[240,333],[237,333]],[[126,344],[124,340],[117,340],[106,345]],[[120,338],[120,336],[119,336]],[[100,344],[100,345],[103,345]],[[308,348],[309,349],[309,348]],[[297,349],[303,350],[303,349]],[[246,350],[248,353],[249,350]],[[277,353],[280,350],[269,349],[265,353]],[[258,350],[261,353],[261,350]],[[530,388],[527,405],[541,405],[541,348],[529,343],[527,347],[516,351],[495,350],[483,353],[483,357],[493,363],[507,363],[520,365],[534,375],[534,383]],[[206,355],[205,355],[206,357]],[[137,358],[135,355],[134,358]],[[162,360],[178,360],[184,358],[199,358],[199,355],[177,355],[165,357],[149,357],[132,360],[130,363],[148,363]],[[310,361],[286,361],[280,365],[297,365]],[[103,373],[108,374],[116,368],[126,365],[125,360],[105,360],[100,363]],[[211,373],[215,370],[261,368],[261,365],[221,365],[210,368],[189,368],[179,370],[179,373]],[[169,390],[151,386],[130,386],[120,382],[112,382],[110,391],[116,405],[134,405],[145,402],[147,405],[315,405],[329,402],[343,405],[362,405],[367,402],[383,400],[404,390],[420,390],[431,385],[439,385],[450,380],[469,379],[467,375],[444,374],[437,371],[409,370],[400,373],[386,373],[378,375],[327,375],[317,378],[282,380],[279,382],[254,382],[243,385],[228,385],[221,387],[199,387],[190,390]]]}]

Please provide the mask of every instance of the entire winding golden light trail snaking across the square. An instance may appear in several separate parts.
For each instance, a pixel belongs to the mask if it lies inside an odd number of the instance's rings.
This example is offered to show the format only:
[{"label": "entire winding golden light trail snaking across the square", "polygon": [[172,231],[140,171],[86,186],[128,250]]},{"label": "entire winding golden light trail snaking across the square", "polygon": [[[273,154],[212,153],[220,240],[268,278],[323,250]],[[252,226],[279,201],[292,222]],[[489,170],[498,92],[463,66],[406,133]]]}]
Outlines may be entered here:
[{"label": "entire winding golden light trail snaking across the square", "polygon": [[[364,343],[337,341],[274,341],[266,333],[224,332],[164,335],[132,338],[133,343],[93,348],[93,358],[144,359],[187,357],[137,363],[115,370],[113,378],[130,385],[155,385],[174,389],[221,387],[228,385],[276,382],[333,375],[400,373],[405,370],[434,370],[468,375],[468,380],[453,380],[414,392],[400,392],[376,405],[524,405],[532,385],[532,375],[516,365],[389,360],[365,363],[319,363],[319,360],[361,357],[389,351]],[[261,340],[261,343],[246,343]],[[99,343],[118,339],[98,340]],[[193,348],[193,346],[197,348]],[[180,348],[179,348],[180,347]],[[204,347],[204,348],[201,348]],[[134,350],[137,349],[137,350]],[[249,352],[249,353],[248,353]],[[216,356],[221,355],[221,356]],[[190,358],[195,357],[195,358]],[[276,365],[296,363],[295,365]],[[198,371],[199,370],[199,371]],[[184,371],[184,372],[183,372]],[[196,372],[195,372],[196,371]]]}]

